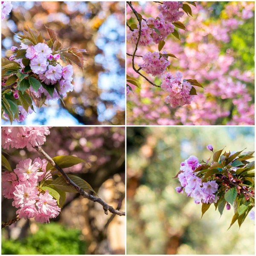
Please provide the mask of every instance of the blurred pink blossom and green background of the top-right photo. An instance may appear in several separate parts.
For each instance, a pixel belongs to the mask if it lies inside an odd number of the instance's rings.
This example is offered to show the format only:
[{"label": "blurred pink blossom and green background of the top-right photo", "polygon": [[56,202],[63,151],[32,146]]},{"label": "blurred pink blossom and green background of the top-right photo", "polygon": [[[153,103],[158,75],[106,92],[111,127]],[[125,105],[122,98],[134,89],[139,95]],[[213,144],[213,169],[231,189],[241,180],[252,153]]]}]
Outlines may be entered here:
[{"label": "blurred pink blossom and green background of the top-right photo", "polygon": [[[159,15],[157,2],[132,3],[145,19]],[[254,125],[254,2],[207,1],[189,6],[193,16],[185,13],[180,18],[186,31],[175,28],[180,40],[169,35],[163,50],[178,58],[169,58],[172,75],[179,71],[183,79],[197,79],[204,89],[196,88],[198,96],[190,105],[171,108],[164,102],[168,93],[135,73],[132,58],[127,56],[127,74],[136,78],[141,88],[129,84],[134,93],[127,96],[127,124]],[[137,24],[129,7],[127,22]],[[148,51],[158,52],[158,45],[139,46],[137,55]],[[127,52],[134,52],[134,44],[127,42]],[[142,58],[135,58],[136,67],[139,63]],[[160,76],[142,73],[161,84]]]}]

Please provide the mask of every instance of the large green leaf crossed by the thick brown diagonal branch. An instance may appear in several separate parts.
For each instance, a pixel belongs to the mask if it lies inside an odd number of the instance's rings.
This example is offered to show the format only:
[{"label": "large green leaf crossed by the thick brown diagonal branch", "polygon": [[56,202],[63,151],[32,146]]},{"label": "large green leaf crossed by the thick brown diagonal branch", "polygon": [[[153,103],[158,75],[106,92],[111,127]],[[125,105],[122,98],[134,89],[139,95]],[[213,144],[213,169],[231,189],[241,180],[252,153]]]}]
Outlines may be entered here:
[{"label": "large green leaf crossed by the thick brown diagonal branch", "polygon": [[[89,189],[90,191],[92,191],[96,194],[96,192],[93,190],[93,188],[90,186],[90,184],[87,183],[85,180],[81,179],[80,177],[78,177],[76,175],[69,174],[67,176],[70,178],[70,180],[72,180],[74,183],[76,183],[76,185],[79,186],[80,188],[82,188],[84,190]],[[66,183],[66,181],[64,180],[64,178],[62,176],[53,180],[51,185],[54,185],[57,189],[60,189],[65,192],[78,193],[78,191],[76,189],[74,189],[73,186],[70,186]]]}]

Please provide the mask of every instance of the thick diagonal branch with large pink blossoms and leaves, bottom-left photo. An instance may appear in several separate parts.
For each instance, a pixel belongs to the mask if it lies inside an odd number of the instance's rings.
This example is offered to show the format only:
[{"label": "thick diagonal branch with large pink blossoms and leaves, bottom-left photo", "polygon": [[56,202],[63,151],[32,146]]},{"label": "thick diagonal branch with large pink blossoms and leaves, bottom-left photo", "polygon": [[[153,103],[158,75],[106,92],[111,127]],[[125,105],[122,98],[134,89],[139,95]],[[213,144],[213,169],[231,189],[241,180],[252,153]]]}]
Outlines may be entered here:
[{"label": "thick diagonal branch with large pink blossoms and leaves, bottom-left photo", "polygon": [[[9,148],[34,148],[43,157],[21,160],[12,170],[8,160],[2,154],[3,196],[12,199],[12,206],[18,208],[17,217],[2,224],[2,228],[9,226],[20,218],[35,218],[35,221],[50,222],[61,212],[66,199],[66,192],[79,193],[84,198],[102,205],[105,214],[111,212],[124,216],[125,212],[114,209],[101,198],[84,191],[88,189],[96,194],[85,180],[76,175],[67,175],[64,168],[79,163],[86,163],[75,156],[49,155],[41,148],[49,135],[49,127],[4,127],[2,128],[2,146]],[[52,178],[55,177],[56,178]],[[97,195],[97,194],[96,194]]]}]

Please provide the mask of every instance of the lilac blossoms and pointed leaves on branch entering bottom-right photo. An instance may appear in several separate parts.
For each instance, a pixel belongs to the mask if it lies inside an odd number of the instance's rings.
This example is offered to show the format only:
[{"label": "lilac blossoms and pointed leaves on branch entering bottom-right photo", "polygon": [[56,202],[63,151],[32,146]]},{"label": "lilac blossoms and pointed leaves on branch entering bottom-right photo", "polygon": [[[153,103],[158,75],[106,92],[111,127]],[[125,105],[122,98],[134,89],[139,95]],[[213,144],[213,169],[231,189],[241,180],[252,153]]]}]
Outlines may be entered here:
[{"label": "lilac blossoms and pointed leaves on branch entering bottom-right photo", "polygon": [[249,216],[254,220],[255,207],[255,163],[247,160],[253,158],[254,151],[224,152],[224,149],[214,152],[212,145],[207,149],[212,151],[211,157],[205,162],[190,156],[180,164],[178,178],[180,185],[178,193],[186,192],[194,198],[195,204],[202,203],[202,217],[211,204],[222,215],[227,210],[234,209],[230,227],[238,221],[239,227]]}]

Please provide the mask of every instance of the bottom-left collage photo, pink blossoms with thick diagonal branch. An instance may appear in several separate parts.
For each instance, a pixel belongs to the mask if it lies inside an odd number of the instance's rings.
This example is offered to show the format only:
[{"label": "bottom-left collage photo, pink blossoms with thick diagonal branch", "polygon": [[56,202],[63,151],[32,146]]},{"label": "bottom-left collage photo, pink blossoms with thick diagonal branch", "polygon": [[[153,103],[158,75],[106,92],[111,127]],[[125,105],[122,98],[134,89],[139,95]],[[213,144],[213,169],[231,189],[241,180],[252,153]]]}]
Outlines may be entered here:
[{"label": "bottom-left collage photo, pink blossoms with thick diagonal branch", "polygon": [[125,128],[3,127],[1,218],[3,255],[125,254]]}]

